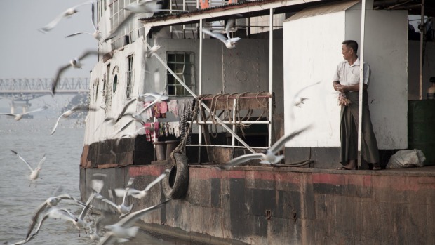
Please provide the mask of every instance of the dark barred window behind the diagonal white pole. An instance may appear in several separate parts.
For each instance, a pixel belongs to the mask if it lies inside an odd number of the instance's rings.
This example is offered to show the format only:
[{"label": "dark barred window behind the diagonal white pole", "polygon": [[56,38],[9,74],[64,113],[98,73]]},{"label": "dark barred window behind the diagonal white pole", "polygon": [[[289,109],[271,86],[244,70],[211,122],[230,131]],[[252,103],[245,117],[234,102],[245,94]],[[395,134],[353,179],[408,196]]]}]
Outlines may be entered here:
[{"label": "dark barred window behind the diagonal white pole", "polygon": [[[190,89],[194,89],[194,53],[192,52],[168,52],[166,54],[168,67]],[[186,88],[180,84],[176,77],[166,71],[166,84],[168,95],[190,95]]]}]

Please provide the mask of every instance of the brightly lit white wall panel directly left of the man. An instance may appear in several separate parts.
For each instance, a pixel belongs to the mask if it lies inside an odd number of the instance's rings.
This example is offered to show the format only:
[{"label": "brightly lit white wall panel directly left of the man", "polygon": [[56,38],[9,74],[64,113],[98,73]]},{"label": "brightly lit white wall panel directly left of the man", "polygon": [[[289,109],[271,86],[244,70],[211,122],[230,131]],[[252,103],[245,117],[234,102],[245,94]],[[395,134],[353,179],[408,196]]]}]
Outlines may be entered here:
[{"label": "brightly lit white wall panel directly left of the man", "polygon": [[[287,143],[288,147],[340,146],[340,107],[332,81],[333,71],[342,59],[344,18],[344,12],[338,12],[283,23],[284,130],[290,133],[313,125],[311,131]],[[300,93],[308,98],[304,105],[293,106],[296,93],[318,81],[321,83]]]}]

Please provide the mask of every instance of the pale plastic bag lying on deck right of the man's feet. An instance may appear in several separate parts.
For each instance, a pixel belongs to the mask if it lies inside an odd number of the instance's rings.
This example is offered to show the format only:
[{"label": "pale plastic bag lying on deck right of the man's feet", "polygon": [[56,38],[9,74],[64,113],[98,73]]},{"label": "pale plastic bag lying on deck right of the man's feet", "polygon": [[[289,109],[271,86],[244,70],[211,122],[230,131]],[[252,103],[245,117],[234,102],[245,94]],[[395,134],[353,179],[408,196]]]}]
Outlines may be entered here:
[{"label": "pale plastic bag lying on deck right of the man's feet", "polygon": [[385,168],[411,168],[415,166],[424,166],[423,162],[426,160],[422,150],[399,150],[392,155]]}]

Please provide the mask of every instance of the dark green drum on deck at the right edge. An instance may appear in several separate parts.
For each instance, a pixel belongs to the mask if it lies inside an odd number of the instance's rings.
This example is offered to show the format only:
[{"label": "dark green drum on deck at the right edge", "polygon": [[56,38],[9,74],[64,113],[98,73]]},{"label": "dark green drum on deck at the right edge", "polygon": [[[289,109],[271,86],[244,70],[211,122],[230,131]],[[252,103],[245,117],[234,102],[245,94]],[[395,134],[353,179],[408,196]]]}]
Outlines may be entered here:
[{"label": "dark green drum on deck at the right edge", "polygon": [[408,100],[408,149],[422,150],[435,165],[435,100]]}]

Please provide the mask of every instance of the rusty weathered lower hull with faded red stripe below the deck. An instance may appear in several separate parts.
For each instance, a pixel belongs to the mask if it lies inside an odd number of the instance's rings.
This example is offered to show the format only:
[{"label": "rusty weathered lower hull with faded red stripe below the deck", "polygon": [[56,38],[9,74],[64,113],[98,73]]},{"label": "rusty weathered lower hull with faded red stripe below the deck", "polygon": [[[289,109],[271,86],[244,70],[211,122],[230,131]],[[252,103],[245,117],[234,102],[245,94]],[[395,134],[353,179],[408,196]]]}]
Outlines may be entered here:
[{"label": "rusty weathered lower hull with faded red stripe below the deck", "polygon": [[[186,197],[142,218],[150,224],[143,227],[207,244],[434,244],[434,169],[195,166]],[[116,184],[105,188],[120,187],[133,175],[133,187],[143,189],[162,171],[154,165],[82,168],[81,184],[107,173]],[[147,198],[130,200],[138,210],[163,199],[159,183]]]}]

